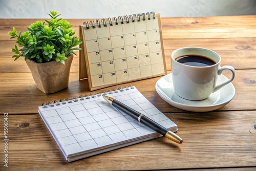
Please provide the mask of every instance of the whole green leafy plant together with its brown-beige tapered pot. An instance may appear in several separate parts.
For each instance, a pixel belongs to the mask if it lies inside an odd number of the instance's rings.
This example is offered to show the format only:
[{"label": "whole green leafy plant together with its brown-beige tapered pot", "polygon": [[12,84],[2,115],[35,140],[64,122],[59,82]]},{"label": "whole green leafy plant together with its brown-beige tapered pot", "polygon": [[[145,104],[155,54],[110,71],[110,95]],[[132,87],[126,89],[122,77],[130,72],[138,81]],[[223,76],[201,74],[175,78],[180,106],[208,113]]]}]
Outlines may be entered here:
[{"label": "whole green leafy plant together with its brown-beige tapered pot", "polygon": [[[36,87],[46,94],[55,93],[69,86],[70,67],[74,50],[82,41],[74,36],[67,20],[57,18],[55,11],[50,11],[50,20],[37,21],[28,27],[28,31],[17,33],[16,29],[8,32],[11,38],[17,38],[17,45],[11,49],[14,60],[23,56],[31,71]],[[76,54],[75,54],[76,55]]]}]

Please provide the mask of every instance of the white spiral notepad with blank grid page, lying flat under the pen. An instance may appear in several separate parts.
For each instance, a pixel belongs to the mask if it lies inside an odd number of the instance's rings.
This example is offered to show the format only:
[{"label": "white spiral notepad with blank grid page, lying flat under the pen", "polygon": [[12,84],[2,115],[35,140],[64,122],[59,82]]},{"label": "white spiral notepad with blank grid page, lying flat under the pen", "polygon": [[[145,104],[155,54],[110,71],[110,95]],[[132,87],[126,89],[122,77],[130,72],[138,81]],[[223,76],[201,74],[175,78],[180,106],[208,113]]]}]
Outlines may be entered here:
[{"label": "white spiral notepad with blank grid page, lying flat under the pen", "polygon": [[50,102],[38,107],[61,152],[71,162],[161,136],[106,102],[113,97],[176,132],[177,125],[135,87]]}]

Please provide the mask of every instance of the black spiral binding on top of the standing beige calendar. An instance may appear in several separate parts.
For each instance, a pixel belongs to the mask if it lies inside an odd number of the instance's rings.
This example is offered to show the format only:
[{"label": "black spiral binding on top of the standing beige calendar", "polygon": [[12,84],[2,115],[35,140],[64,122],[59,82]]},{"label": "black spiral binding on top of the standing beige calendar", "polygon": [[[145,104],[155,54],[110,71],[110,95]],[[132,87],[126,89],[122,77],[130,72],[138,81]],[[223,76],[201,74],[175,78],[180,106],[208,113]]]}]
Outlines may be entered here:
[{"label": "black spiral binding on top of the standing beige calendar", "polygon": [[[114,25],[118,25],[118,22],[120,22],[120,24],[124,24],[123,20],[125,20],[126,23],[130,23],[131,22],[135,22],[135,20],[137,19],[137,22],[140,22],[140,19],[145,20],[146,18],[149,20],[151,19],[151,17],[153,17],[153,19],[156,18],[156,14],[155,12],[146,12],[146,13],[141,13],[141,14],[130,14],[128,15],[124,15],[122,16],[118,16],[118,17],[113,17],[111,19],[111,17],[109,18],[102,18],[101,22],[99,19],[96,19],[95,22],[94,20],[90,20],[90,22],[83,22],[83,25],[86,25],[86,29],[90,29],[91,28],[95,29],[95,27],[100,28],[101,26],[103,27],[107,27],[107,22],[109,22],[109,26],[113,26],[112,20],[114,22]],[[95,26],[96,23],[96,26]]]}]

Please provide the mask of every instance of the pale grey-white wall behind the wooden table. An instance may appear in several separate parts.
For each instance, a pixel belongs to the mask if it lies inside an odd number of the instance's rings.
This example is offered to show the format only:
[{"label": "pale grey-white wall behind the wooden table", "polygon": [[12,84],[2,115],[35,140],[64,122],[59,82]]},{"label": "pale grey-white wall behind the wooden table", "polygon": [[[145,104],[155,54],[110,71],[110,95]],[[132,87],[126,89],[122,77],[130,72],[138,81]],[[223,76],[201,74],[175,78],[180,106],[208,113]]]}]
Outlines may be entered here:
[{"label": "pale grey-white wall behind the wooden table", "polygon": [[0,0],[0,18],[108,18],[142,12],[168,16],[255,15],[255,0]]}]

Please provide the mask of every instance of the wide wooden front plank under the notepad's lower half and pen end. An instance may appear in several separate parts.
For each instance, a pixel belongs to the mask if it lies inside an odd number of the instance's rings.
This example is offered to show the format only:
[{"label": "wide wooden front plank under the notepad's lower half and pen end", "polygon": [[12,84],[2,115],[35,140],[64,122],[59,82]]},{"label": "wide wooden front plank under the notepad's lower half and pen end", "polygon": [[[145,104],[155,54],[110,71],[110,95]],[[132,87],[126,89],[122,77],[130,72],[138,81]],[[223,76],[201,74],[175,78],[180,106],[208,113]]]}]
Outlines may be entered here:
[{"label": "wide wooden front plank under the notepad's lower half and pen end", "polygon": [[179,125],[178,135],[183,144],[161,137],[67,163],[39,115],[10,115],[10,165],[21,170],[255,166],[254,111],[166,113],[166,116]]}]

